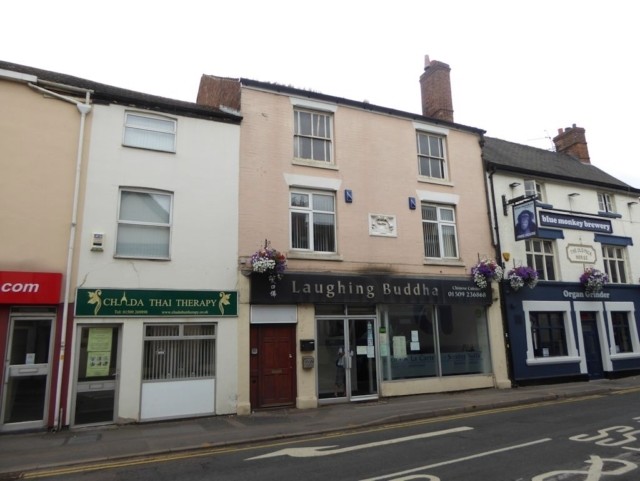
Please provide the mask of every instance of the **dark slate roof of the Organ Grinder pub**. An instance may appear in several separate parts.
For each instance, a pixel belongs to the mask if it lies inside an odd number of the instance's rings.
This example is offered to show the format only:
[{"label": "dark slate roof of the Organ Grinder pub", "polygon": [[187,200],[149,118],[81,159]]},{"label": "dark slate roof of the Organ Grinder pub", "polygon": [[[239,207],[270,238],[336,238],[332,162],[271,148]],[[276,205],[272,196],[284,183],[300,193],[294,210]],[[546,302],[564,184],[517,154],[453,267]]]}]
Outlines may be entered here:
[{"label": "dark slate roof of the Organ Grinder pub", "polygon": [[504,170],[589,184],[636,195],[640,193],[640,189],[607,174],[593,164],[585,164],[571,155],[492,137],[485,137],[484,140],[482,157],[488,170]]}]

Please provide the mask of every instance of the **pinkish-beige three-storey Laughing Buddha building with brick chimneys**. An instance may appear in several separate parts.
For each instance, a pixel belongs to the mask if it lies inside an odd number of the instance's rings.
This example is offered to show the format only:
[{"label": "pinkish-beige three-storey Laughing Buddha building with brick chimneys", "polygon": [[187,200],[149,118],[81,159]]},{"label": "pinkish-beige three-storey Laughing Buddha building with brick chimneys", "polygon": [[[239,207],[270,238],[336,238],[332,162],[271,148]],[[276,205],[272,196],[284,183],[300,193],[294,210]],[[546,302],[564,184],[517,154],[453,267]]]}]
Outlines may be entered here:
[{"label": "pinkish-beige three-storey Laughing Buddha building with brick chimneys", "polygon": [[239,414],[510,387],[498,289],[470,275],[495,255],[484,132],[453,122],[449,73],[427,58],[423,115],[202,77],[243,117]]}]

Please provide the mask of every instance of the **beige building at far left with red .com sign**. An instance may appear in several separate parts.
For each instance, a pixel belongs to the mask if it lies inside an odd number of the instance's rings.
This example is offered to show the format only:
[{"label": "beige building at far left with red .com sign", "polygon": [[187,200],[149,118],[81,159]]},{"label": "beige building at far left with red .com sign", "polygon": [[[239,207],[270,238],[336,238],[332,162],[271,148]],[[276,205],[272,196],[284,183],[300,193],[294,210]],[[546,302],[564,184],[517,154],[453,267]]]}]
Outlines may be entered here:
[{"label": "beige building at far left with red .com sign", "polygon": [[[55,427],[63,405],[90,91],[0,62],[0,430]],[[71,298],[72,300],[72,298]]]}]

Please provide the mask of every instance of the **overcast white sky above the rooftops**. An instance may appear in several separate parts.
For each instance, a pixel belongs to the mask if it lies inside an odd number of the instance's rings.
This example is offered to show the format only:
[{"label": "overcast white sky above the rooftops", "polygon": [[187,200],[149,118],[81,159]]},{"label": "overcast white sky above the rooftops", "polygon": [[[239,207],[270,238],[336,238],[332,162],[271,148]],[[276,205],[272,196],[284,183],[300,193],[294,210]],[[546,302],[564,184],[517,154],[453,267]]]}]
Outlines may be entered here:
[{"label": "overcast white sky above the rooftops", "polygon": [[31,0],[2,16],[2,60],[191,102],[212,74],[420,113],[429,55],[451,66],[456,122],[545,149],[576,124],[591,163],[640,188],[631,1]]}]

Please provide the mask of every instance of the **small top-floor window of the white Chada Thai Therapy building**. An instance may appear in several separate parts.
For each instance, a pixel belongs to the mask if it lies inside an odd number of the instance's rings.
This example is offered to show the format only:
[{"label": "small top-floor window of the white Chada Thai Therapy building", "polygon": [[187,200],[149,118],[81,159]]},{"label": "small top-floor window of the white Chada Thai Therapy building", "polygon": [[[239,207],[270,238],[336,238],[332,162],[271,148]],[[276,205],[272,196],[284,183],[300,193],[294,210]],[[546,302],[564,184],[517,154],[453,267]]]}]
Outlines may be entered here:
[{"label": "small top-floor window of the white Chada Thai Therapy building", "polygon": [[176,120],[168,117],[127,112],[124,120],[123,145],[175,152],[176,125]]}]

